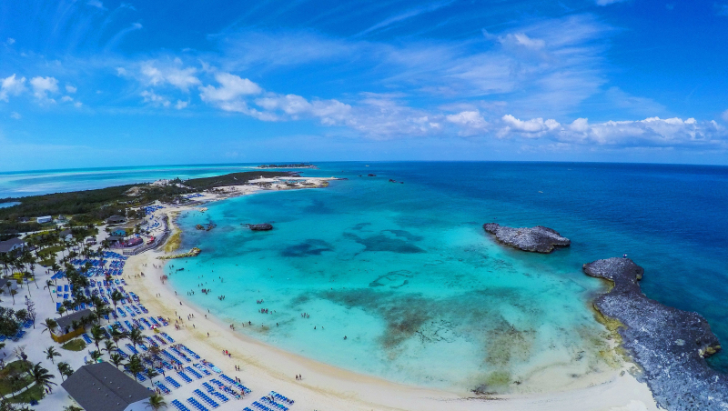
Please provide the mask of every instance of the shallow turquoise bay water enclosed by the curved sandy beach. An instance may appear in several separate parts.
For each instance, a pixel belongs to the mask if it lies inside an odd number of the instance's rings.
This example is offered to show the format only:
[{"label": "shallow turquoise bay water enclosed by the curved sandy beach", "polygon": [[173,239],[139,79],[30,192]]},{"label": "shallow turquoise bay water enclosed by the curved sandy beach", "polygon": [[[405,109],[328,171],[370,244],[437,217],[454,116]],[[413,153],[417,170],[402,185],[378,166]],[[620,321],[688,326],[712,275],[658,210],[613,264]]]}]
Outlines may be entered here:
[{"label": "shallow turquoise bay water enclosed by the curved sandy beach", "polygon": [[[602,285],[564,264],[571,250],[533,256],[483,234],[482,223],[503,221],[515,206],[391,184],[393,171],[358,173],[327,189],[249,195],[183,214],[183,246],[203,253],[172,263],[172,284],[248,335],[404,383],[497,391],[528,386],[544,369],[569,380],[608,367],[598,354],[604,330],[588,308]],[[194,228],[207,222],[217,228]],[[241,226],[258,222],[276,228]]]}]

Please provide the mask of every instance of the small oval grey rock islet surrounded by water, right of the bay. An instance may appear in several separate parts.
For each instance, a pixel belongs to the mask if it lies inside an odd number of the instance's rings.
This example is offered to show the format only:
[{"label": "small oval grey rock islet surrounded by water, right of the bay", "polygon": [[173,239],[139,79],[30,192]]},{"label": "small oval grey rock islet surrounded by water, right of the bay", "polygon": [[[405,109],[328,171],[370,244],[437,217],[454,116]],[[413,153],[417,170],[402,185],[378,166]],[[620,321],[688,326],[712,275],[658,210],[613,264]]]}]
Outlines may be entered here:
[{"label": "small oval grey rock islet surrounded by water, right of the bay", "polygon": [[483,229],[494,235],[501,243],[523,251],[551,253],[556,247],[571,245],[569,238],[544,226],[512,228],[498,223],[488,223],[483,225]]}]

